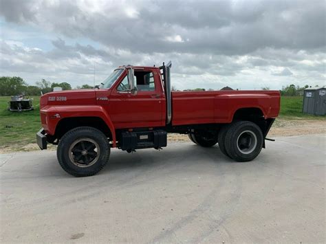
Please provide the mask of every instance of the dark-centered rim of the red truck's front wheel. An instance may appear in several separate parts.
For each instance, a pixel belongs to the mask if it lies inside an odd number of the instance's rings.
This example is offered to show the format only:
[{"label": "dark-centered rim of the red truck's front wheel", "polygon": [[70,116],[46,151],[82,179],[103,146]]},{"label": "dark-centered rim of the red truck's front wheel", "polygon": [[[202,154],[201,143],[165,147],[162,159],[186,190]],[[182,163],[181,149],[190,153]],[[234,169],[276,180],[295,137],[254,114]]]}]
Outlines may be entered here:
[{"label": "dark-centered rim of the red truck's front wheel", "polygon": [[80,168],[92,166],[99,157],[100,146],[91,138],[80,138],[69,147],[70,161]]}]

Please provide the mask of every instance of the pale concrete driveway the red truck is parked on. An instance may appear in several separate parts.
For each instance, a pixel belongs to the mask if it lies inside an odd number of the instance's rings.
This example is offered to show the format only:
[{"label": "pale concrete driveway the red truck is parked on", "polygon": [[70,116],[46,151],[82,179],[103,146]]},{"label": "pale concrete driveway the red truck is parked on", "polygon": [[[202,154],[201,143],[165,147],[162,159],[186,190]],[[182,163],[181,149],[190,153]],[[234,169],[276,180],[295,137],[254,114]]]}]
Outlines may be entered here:
[{"label": "pale concrete driveway the red truck is parked on", "polygon": [[1,243],[324,243],[325,135],[279,137],[253,162],[173,143],[111,151],[75,178],[54,151],[0,155]]}]

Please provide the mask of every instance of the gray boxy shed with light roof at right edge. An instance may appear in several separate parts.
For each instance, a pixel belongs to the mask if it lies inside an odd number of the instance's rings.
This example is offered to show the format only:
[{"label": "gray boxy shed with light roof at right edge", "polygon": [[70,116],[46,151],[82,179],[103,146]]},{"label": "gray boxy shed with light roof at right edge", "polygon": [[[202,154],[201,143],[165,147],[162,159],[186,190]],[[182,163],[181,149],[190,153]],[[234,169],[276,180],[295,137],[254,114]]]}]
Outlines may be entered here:
[{"label": "gray boxy shed with light roof at right edge", "polygon": [[326,87],[308,87],[303,92],[303,113],[326,114]]}]

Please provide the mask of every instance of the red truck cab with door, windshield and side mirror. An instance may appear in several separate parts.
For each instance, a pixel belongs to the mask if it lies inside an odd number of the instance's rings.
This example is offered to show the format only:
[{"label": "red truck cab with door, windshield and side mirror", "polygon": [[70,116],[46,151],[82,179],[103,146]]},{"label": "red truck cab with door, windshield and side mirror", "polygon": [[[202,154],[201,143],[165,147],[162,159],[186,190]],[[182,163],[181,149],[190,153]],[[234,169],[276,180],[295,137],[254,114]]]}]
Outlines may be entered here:
[{"label": "red truck cab with door, windshield and side mirror", "polygon": [[106,80],[102,85],[104,90],[96,92],[98,104],[105,107],[115,128],[165,126],[166,104],[160,69],[121,67],[115,72],[120,74],[118,79]]}]

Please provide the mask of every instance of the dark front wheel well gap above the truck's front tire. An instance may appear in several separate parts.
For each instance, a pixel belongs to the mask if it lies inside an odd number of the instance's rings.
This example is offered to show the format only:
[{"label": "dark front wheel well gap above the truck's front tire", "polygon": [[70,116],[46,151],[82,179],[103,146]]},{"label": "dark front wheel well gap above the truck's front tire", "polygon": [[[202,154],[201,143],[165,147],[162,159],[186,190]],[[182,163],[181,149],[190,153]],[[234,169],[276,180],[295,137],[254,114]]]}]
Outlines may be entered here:
[{"label": "dark front wheel well gap above the truck's front tire", "polygon": [[104,120],[98,117],[74,117],[74,118],[63,118],[56,126],[55,137],[60,139],[67,131],[74,129],[79,126],[90,126],[94,127],[102,133],[104,133],[110,139],[112,138],[111,131]]}]

